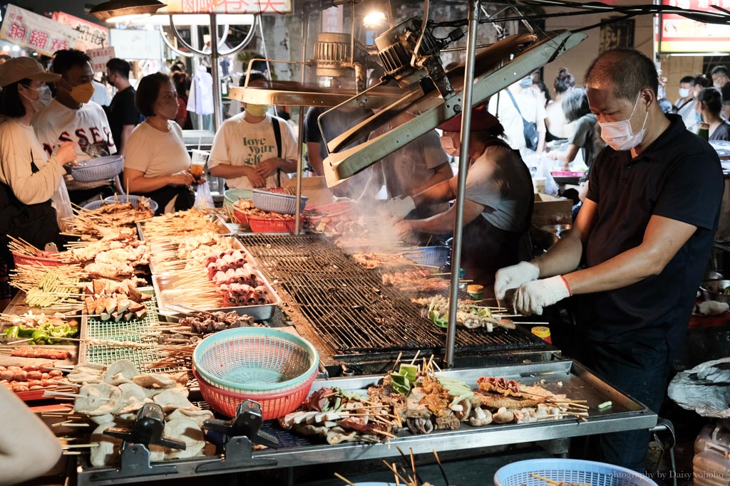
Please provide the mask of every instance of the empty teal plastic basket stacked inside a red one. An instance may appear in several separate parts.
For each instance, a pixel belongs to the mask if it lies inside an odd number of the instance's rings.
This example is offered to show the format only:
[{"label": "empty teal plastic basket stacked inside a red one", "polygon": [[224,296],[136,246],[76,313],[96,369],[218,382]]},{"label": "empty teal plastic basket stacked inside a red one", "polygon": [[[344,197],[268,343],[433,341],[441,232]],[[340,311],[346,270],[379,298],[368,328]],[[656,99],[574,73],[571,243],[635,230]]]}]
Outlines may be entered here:
[{"label": "empty teal plastic basket stacked inside a red one", "polygon": [[311,342],[280,329],[226,329],[199,343],[193,367],[226,391],[272,393],[307,381],[319,367],[319,354]]}]

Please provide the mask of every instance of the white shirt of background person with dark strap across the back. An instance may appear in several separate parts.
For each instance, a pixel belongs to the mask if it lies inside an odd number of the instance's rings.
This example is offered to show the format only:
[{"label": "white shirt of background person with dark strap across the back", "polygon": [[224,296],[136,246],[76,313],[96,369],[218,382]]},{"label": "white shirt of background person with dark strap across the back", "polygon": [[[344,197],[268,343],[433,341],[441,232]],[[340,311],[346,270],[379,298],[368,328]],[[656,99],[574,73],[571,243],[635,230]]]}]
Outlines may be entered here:
[{"label": "white shirt of background person with dark strap across the back", "polygon": [[[507,92],[509,90],[509,93]],[[537,149],[535,152],[542,152],[545,146],[545,118],[548,117],[545,106],[539,102],[532,90],[532,77],[526,76],[520,79],[507,90],[502,90],[489,98],[488,111],[496,115],[499,122],[504,127],[504,133],[507,136],[507,144],[512,149],[521,150],[526,148],[524,136],[524,124],[522,119],[537,125]],[[515,103],[519,107],[515,107],[510,98],[515,98]],[[520,116],[521,112],[521,116]]]}]

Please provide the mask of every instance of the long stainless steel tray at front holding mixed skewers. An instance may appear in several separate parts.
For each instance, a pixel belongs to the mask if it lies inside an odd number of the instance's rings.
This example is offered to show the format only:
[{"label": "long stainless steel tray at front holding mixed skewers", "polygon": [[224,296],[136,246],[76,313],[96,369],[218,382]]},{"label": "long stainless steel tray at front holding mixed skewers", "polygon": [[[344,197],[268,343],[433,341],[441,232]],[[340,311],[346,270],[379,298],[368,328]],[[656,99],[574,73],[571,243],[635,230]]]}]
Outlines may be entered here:
[{"label": "long stainless steel tray at front holding mixed skewers", "polygon": [[[236,471],[253,471],[255,469],[288,468],[294,466],[312,466],[325,463],[346,463],[353,460],[372,460],[379,458],[394,458],[399,451],[412,449],[413,454],[431,454],[433,450],[439,452],[451,450],[483,449],[486,447],[504,446],[505,444],[519,444],[523,442],[537,442],[553,439],[565,439],[575,436],[606,434],[609,432],[649,429],[656,425],[657,415],[645,405],[622,393],[609,383],[604,382],[593,372],[576,361],[553,361],[539,364],[512,364],[501,367],[454,369],[445,372],[445,375],[458,377],[469,385],[475,385],[477,377],[499,376],[507,379],[520,380],[531,384],[541,382],[542,386],[555,393],[566,393],[572,399],[588,400],[589,417],[587,422],[575,419],[546,420],[537,423],[488,425],[472,427],[463,425],[455,431],[434,431],[431,434],[412,435],[401,431],[397,439],[387,444],[362,444],[345,442],[337,445],[323,443],[321,439],[307,436],[297,436],[284,431],[275,420],[267,420],[263,430],[277,437],[280,447],[277,450],[261,450],[253,453],[255,459],[274,459],[275,466],[241,466],[226,473]],[[382,375],[369,375],[353,378],[334,378],[331,380],[315,380],[312,390],[319,388],[339,387],[346,391],[358,391],[368,385],[377,383]],[[562,386],[560,385],[562,383]],[[597,409],[597,405],[604,401],[612,401],[613,405],[607,409]],[[93,468],[88,458],[80,458],[78,468],[78,484],[84,485],[118,485],[131,482],[151,481],[153,479],[171,479],[203,476],[210,473],[198,472],[204,464],[216,463],[220,458],[193,458],[188,460],[167,461],[165,466],[174,466],[174,474],[153,474],[145,477],[135,477],[134,471],[129,471],[127,477],[114,480],[94,480],[94,476],[101,471],[111,471],[112,468]],[[218,473],[220,474],[220,473]]]}]

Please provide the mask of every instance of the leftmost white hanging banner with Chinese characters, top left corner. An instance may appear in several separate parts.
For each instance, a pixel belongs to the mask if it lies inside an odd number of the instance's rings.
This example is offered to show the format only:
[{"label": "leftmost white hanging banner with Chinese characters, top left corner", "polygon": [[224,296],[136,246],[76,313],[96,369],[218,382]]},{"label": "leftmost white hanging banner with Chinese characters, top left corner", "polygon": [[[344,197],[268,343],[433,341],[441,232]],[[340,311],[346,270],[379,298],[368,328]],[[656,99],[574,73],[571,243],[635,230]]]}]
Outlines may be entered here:
[{"label": "leftmost white hanging banner with Chinese characters, top left corner", "polygon": [[0,39],[45,55],[77,46],[79,33],[69,26],[8,4]]}]

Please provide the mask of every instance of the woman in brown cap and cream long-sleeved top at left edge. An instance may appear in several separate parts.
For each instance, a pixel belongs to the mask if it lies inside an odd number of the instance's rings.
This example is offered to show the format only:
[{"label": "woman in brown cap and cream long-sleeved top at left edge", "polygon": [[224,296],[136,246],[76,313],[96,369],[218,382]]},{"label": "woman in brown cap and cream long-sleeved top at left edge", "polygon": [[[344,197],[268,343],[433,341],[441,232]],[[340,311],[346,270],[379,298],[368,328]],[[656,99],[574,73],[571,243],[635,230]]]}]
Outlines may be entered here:
[{"label": "woman in brown cap and cream long-sleeved top at left edge", "polygon": [[12,265],[9,236],[40,249],[62,243],[51,196],[64,165],[76,159],[76,144],[61,144],[49,159],[31,128],[33,114],[50,101],[45,83],[60,77],[33,58],[13,58],[0,68],[0,263]]}]

